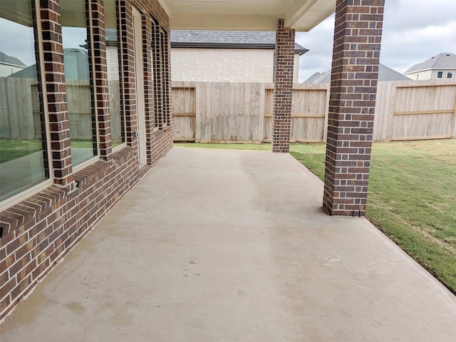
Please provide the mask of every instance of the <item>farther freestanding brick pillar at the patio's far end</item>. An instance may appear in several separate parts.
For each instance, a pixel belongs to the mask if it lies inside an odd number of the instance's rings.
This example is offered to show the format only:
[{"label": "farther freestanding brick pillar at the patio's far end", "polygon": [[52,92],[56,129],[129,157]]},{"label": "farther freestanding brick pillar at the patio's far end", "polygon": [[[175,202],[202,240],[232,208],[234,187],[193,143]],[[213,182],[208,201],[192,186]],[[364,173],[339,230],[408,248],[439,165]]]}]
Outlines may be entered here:
[{"label": "farther freestanding brick pillar at the patio's far end", "polygon": [[289,152],[290,150],[293,71],[294,29],[285,28],[284,19],[279,19],[274,53],[272,152]]}]

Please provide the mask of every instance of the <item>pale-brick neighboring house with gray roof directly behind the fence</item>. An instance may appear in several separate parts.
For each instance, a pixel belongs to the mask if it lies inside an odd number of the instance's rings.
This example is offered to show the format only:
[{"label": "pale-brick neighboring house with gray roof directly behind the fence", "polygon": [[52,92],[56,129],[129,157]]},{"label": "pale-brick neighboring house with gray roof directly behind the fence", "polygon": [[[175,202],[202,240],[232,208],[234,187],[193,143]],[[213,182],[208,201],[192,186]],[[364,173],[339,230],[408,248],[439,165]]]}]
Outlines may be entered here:
[{"label": "pale-brick neighboring house with gray roof directly behind the fence", "polygon": [[[272,82],[274,31],[171,31],[172,81]],[[294,46],[294,83],[299,56]]]}]

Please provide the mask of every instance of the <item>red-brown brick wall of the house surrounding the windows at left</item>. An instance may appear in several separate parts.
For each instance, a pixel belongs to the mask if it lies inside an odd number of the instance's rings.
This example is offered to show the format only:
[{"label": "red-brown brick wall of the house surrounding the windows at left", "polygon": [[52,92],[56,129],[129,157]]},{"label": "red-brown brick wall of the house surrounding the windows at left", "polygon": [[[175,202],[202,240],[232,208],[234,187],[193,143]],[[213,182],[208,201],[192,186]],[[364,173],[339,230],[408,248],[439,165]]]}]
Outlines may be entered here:
[{"label": "red-brown brick wall of the house surrounding the windows at left", "polygon": [[[63,74],[63,46],[60,6],[56,0],[41,0],[41,28],[46,76],[46,98],[51,132],[54,183],[46,190],[28,197],[0,212],[0,320],[11,311],[53,266],[85,236],[118,200],[135,185],[144,173],[138,168],[138,138],[133,134],[136,120],[135,65],[133,54],[132,6],[135,5],[150,21],[155,17],[169,33],[168,19],[157,0],[116,1],[120,13],[120,98],[124,115],[127,146],[111,150],[103,23],[103,0],[86,0],[91,10],[93,27],[93,105],[98,119],[100,160],[73,172],[66,87]],[[143,23],[144,24],[144,23]],[[150,24],[147,24],[150,27]],[[147,39],[144,49],[147,56]],[[169,44],[168,44],[169,47]],[[168,49],[169,51],[169,49]],[[168,52],[169,53],[169,52]],[[145,68],[150,65],[145,63]],[[150,70],[148,71],[150,73]],[[170,78],[170,69],[165,70]],[[145,73],[145,88],[153,86]],[[149,76],[150,77],[150,76]],[[152,91],[145,92],[147,108],[153,108]],[[165,115],[170,113],[170,99],[164,103]],[[168,114],[166,114],[168,113]],[[147,120],[153,120],[152,110]],[[172,125],[150,132],[147,136],[147,163],[154,165],[172,147]],[[76,181],[76,182],[73,182]]]}]

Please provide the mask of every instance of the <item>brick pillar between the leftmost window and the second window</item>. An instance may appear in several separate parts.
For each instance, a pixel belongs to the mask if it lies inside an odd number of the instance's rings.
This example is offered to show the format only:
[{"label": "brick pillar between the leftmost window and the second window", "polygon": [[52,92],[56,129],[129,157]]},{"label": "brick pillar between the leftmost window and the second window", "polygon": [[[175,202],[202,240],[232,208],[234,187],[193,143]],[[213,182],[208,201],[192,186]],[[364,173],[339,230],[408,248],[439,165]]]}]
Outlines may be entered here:
[{"label": "brick pillar between the leftmost window and the second window", "polygon": [[44,76],[47,114],[51,136],[54,183],[73,189],[70,125],[66,105],[65,73],[63,68],[60,1],[40,1],[41,36],[43,38]]}]

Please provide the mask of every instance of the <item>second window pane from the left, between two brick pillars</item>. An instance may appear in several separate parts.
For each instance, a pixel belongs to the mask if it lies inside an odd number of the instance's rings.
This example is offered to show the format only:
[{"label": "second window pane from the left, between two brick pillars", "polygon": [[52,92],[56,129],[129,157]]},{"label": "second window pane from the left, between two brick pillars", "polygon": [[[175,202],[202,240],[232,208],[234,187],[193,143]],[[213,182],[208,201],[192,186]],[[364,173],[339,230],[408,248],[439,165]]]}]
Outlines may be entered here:
[{"label": "second window pane from the left, between two brick pillars", "polygon": [[97,155],[95,115],[90,91],[85,1],[61,1],[61,12],[71,160],[73,165],[78,165]]}]

